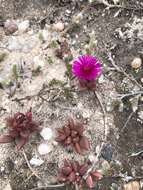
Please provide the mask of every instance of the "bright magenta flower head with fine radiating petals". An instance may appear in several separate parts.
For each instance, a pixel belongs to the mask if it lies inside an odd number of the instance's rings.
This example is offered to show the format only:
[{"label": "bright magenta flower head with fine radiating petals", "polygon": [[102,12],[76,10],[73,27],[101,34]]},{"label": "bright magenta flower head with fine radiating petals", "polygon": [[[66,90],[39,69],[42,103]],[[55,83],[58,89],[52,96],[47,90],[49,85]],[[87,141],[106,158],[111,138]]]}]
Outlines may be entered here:
[{"label": "bright magenta flower head with fine radiating petals", "polygon": [[101,64],[96,57],[81,55],[73,61],[72,73],[80,80],[94,80],[101,72]]}]

